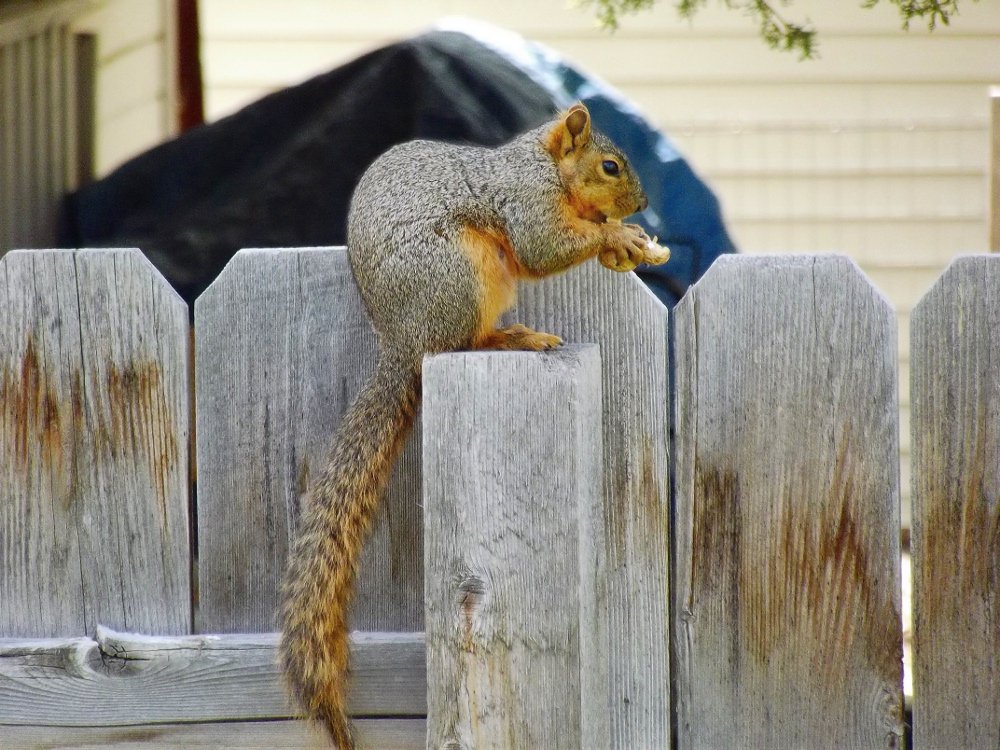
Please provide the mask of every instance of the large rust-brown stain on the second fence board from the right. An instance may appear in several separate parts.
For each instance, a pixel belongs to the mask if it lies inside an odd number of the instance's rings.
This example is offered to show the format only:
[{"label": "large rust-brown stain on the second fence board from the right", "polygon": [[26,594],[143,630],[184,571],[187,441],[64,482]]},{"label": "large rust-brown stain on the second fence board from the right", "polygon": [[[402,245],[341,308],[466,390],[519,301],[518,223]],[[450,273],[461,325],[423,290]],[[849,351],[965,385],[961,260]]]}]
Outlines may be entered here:
[{"label": "large rust-brown stain on the second fence board from the right", "polygon": [[776,651],[805,640],[811,668],[828,675],[830,685],[846,686],[850,654],[860,648],[887,684],[898,682],[893,579],[873,567],[876,541],[858,522],[867,498],[849,439],[818,503],[796,497],[792,485],[781,489],[771,532],[763,523],[755,522],[752,536],[745,528],[743,514],[759,509],[741,506],[749,492],[743,484],[735,471],[700,469],[693,516],[692,596],[722,598],[733,654],[766,665]]}]

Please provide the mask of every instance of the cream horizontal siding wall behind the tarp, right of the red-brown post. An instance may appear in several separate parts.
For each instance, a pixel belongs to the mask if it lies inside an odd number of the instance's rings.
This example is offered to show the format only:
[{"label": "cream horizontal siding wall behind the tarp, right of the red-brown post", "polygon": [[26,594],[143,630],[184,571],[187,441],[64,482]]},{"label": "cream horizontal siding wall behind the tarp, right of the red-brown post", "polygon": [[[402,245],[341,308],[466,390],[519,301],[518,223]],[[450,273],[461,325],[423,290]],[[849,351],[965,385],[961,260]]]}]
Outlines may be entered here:
[{"label": "cream horizontal siding wall behind the tarp, right of the red-brown post", "polygon": [[847,253],[897,306],[906,499],[909,311],[952,256],[987,249],[1000,3],[965,0],[933,34],[904,32],[887,3],[859,5],[786,9],[821,34],[820,58],[799,62],[767,49],[739,13],[710,8],[689,25],[671,0],[615,35],[563,0],[202,0],[206,108],[220,117],[447,14],[554,47],[674,138],[741,249]]}]

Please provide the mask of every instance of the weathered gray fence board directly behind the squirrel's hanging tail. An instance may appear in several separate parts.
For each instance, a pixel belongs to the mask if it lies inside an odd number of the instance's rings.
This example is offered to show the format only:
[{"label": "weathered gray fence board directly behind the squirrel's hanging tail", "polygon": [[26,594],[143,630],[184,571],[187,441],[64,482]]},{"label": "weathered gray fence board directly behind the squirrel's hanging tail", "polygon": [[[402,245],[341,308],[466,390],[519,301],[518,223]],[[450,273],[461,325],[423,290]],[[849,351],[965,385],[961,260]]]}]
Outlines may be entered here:
[{"label": "weathered gray fence board directly behind the squirrel's hanging tail", "polygon": [[[342,248],[243,250],[195,303],[199,632],[275,628],[299,501],[375,364]],[[353,625],[420,630],[419,426],[361,561]]]}]

